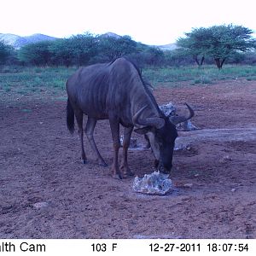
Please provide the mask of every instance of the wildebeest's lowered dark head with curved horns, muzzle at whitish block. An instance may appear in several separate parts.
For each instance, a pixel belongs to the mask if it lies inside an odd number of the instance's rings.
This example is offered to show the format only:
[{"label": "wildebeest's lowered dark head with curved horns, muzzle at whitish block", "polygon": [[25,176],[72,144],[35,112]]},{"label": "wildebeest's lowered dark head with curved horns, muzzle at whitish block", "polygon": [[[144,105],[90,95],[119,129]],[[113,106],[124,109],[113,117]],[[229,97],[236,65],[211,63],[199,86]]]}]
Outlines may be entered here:
[{"label": "wildebeest's lowered dark head with curved horns, muzzle at whitish block", "polygon": [[189,107],[189,116],[164,116],[159,118],[140,119],[140,115],[147,107],[142,108],[133,118],[133,123],[143,125],[135,131],[147,134],[155,157],[155,167],[158,171],[168,173],[172,169],[172,155],[177,138],[176,125],[194,116],[194,111]]}]

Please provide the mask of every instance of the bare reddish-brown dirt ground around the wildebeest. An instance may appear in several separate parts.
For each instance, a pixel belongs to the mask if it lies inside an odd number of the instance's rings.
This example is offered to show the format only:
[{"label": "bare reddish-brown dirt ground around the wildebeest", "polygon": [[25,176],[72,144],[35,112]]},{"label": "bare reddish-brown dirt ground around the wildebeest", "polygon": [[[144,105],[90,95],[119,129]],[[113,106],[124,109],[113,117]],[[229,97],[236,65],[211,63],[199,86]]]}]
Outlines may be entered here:
[{"label": "bare reddish-brown dirt ground around the wildebeest", "polygon": [[[181,110],[189,102],[203,129],[179,132],[189,148],[175,152],[165,196],[133,192],[133,178],[113,179],[87,139],[90,161],[81,164],[65,101],[4,97],[0,238],[256,238],[256,83],[183,85],[154,91],[159,103]],[[110,166],[108,121],[98,122],[95,138]],[[129,161],[139,177],[153,172],[150,150],[131,150]]]}]

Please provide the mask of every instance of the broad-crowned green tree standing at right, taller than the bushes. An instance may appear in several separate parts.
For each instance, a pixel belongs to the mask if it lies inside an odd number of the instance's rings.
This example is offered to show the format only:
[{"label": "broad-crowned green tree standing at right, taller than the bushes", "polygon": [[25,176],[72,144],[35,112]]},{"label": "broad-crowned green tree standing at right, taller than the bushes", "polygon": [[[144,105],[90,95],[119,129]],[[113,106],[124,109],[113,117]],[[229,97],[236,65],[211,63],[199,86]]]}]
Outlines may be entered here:
[{"label": "broad-crowned green tree standing at right, taller than the bushes", "polygon": [[[228,57],[255,48],[256,40],[252,34],[253,31],[247,27],[232,24],[194,28],[192,32],[186,33],[186,38],[179,38],[177,45],[192,55],[199,67],[205,56],[209,55],[221,69]],[[201,61],[198,60],[199,56]]]}]

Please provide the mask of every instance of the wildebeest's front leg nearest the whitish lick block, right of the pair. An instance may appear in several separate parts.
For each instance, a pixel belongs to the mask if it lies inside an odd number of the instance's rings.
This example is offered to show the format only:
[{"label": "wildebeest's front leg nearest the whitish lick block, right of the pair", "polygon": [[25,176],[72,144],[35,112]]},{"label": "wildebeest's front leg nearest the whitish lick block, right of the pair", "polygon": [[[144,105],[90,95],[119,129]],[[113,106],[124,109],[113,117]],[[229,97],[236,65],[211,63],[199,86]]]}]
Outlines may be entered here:
[{"label": "wildebeest's front leg nearest the whitish lick block, right of the pair", "polygon": [[123,141],[123,159],[121,163],[121,170],[124,172],[124,176],[133,176],[134,173],[131,172],[129,166],[128,166],[128,148],[130,146],[131,141],[131,132],[133,130],[133,127],[125,128],[124,131],[124,141]]}]

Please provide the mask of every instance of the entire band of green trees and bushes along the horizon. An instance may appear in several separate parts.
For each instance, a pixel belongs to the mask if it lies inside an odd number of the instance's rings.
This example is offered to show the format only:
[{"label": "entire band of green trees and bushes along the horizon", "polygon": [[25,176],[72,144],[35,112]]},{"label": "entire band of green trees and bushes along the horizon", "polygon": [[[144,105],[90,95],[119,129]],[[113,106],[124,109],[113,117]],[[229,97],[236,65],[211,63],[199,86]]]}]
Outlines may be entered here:
[{"label": "entire band of green trees and bushes along the horizon", "polygon": [[[0,65],[23,64],[45,66],[87,66],[99,62],[113,61],[126,55],[144,66],[185,66],[193,60],[199,67],[215,61],[218,68],[224,62],[255,63],[255,39],[252,31],[243,26],[211,26],[194,28],[177,40],[177,49],[163,50],[136,42],[129,36],[93,35],[90,32],[27,44],[13,49],[0,42]],[[192,58],[191,58],[192,56]]]}]

